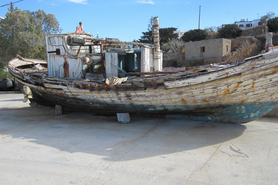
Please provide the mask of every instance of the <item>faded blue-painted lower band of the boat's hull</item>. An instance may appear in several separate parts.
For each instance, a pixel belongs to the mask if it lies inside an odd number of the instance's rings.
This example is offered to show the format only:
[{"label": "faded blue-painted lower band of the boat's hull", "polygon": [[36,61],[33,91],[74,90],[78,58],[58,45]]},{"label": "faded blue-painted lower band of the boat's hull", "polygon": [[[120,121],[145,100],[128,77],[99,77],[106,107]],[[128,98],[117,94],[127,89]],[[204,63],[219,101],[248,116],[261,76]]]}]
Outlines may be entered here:
[{"label": "faded blue-painted lower band of the boat's hull", "polygon": [[253,121],[278,106],[277,102],[252,102],[203,105],[142,105],[134,103],[104,102],[94,98],[75,98],[50,93],[38,92],[45,99],[76,110],[92,112],[129,112],[157,114],[167,118],[187,119],[195,121],[214,121],[221,123],[247,123]]}]

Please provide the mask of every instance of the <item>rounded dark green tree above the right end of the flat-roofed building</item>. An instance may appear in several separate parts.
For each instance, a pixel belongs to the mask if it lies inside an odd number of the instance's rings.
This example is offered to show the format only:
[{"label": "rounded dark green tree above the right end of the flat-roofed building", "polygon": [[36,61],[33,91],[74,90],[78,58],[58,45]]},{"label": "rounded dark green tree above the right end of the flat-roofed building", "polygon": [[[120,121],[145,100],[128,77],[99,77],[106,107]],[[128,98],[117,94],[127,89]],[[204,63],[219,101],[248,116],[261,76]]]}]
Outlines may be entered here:
[{"label": "rounded dark green tree above the right end of the flat-roofed building", "polygon": [[238,27],[237,24],[226,24],[225,27],[222,27],[218,30],[218,38],[236,38],[239,37],[242,33],[242,29]]}]

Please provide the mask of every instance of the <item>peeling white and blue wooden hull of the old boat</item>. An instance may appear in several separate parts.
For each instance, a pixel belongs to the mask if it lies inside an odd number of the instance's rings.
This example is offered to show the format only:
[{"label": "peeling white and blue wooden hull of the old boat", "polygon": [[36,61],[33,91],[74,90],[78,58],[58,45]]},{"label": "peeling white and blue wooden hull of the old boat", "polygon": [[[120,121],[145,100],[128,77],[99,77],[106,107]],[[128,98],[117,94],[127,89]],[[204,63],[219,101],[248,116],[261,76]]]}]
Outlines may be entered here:
[{"label": "peeling white and blue wooden hull of the old boat", "polygon": [[[20,72],[17,62],[22,61],[18,58],[9,62],[8,69],[19,83],[30,87],[33,96],[67,108],[99,113],[146,113],[198,121],[247,123],[264,116],[278,105],[277,50],[275,48],[248,62],[214,73],[166,81],[156,89],[133,90],[119,86],[116,91],[111,88],[109,91],[98,91],[96,88],[91,91],[67,85],[65,80],[60,80],[60,85],[45,85],[42,79]],[[33,62],[45,61],[33,59]]]}]

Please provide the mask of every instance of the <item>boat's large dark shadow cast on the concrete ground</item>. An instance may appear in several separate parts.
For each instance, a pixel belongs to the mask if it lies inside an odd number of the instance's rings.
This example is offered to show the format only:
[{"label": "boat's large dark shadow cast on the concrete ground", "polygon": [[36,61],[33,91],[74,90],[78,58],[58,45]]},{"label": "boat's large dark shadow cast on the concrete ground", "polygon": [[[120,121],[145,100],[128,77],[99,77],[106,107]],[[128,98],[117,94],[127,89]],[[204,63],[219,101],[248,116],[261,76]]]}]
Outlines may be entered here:
[{"label": "boat's large dark shadow cast on the concrete ground", "polygon": [[[116,116],[94,116],[67,110],[24,107],[0,109],[2,137],[29,139],[70,153],[85,152],[105,160],[125,161],[169,153],[218,147],[242,135],[246,126],[226,123],[158,119],[131,115],[131,123],[119,124]],[[131,151],[132,149],[132,151]],[[133,155],[125,157],[125,153]]]}]

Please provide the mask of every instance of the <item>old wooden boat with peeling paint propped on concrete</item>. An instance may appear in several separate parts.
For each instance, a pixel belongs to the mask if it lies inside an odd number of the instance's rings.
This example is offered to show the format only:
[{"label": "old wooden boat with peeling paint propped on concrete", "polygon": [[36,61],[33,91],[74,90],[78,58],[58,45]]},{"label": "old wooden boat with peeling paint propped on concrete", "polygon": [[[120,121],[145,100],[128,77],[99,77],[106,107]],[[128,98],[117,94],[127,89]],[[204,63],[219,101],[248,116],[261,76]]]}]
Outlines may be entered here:
[{"label": "old wooden boat with peeling paint propped on concrete", "polygon": [[[278,47],[243,60],[162,71],[159,44],[123,43],[82,33],[45,38],[47,61],[18,56],[8,63],[10,73],[36,100],[96,113],[221,123],[247,123],[278,105]],[[101,50],[101,59],[94,55],[95,47],[113,44],[142,48]]]}]

